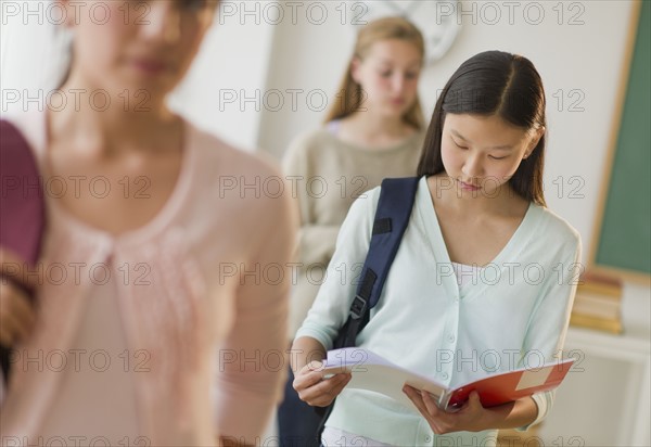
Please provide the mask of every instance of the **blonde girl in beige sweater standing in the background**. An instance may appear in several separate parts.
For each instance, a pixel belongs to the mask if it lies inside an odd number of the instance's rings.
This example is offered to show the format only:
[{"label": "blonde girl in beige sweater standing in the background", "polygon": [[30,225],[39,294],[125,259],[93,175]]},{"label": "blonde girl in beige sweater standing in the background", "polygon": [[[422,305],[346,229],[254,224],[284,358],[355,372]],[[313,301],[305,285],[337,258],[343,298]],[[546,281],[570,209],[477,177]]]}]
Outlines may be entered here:
[{"label": "blonde girl in beige sweater standing in the background", "polygon": [[[324,127],[299,136],[288,150],[284,174],[297,186],[301,208],[290,341],[317,295],[353,202],[386,177],[416,174],[424,139],[418,98],[423,58],[423,36],[407,20],[366,25]],[[279,409],[281,445],[318,445],[319,419],[298,399],[292,380]]]}]

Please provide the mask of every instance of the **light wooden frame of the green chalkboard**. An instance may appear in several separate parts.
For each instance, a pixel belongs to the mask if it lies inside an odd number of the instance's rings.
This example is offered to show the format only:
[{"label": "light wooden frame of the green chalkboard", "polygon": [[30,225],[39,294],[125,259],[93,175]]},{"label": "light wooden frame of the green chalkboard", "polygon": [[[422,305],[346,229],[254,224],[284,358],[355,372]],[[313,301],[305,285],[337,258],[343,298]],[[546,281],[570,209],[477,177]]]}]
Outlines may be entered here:
[{"label": "light wooden frame of the green chalkboard", "polygon": [[640,273],[637,271],[624,270],[615,267],[603,266],[597,264],[597,251],[599,248],[599,239],[601,237],[601,229],[603,224],[603,214],[605,213],[605,202],[608,199],[608,192],[610,189],[611,177],[613,171],[613,162],[615,159],[615,152],[617,146],[617,139],[620,137],[620,129],[622,127],[622,118],[624,113],[624,103],[626,101],[626,90],[628,87],[628,78],[630,76],[630,66],[633,63],[633,54],[635,52],[636,37],[638,31],[638,25],[640,21],[640,14],[642,10],[642,0],[636,0],[631,7],[630,20],[628,25],[628,36],[626,38],[626,47],[624,54],[624,61],[622,63],[622,73],[620,75],[620,87],[617,89],[617,99],[615,101],[613,120],[608,142],[608,153],[605,155],[605,163],[603,166],[603,175],[601,178],[601,187],[599,189],[599,196],[597,201],[597,213],[595,215],[595,225],[592,227],[592,237],[590,239],[590,246],[588,253],[588,268],[590,270],[599,270],[607,273],[613,273],[621,277],[624,280],[633,281],[643,285],[651,284],[651,274]]}]

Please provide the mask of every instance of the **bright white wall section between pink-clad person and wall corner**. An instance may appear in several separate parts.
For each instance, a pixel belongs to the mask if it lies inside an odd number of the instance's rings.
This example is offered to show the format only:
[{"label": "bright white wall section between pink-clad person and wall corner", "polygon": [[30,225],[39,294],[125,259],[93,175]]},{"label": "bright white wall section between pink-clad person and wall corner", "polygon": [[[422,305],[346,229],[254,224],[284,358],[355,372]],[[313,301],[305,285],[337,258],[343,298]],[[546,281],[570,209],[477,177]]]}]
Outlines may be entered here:
[{"label": "bright white wall section between pink-clad person and wall corner", "polygon": [[[252,3],[252,2],[250,2]],[[257,2],[253,2],[257,3]],[[225,2],[194,64],[171,97],[173,106],[201,127],[253,151],[263,117],[261,92],[275,27],[256,4]],[[254,15],[246,15],[246,11]],[[256,95],[258,99],[256,99]],[[247,102],[246,99],[253,99]]]}]

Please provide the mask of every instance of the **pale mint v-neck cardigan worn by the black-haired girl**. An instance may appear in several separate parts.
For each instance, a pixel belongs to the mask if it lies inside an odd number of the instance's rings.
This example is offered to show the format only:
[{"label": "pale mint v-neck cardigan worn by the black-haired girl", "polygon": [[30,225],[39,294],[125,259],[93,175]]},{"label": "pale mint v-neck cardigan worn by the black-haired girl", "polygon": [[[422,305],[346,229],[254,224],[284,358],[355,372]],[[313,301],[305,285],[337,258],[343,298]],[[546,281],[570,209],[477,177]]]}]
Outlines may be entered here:
[{"label": "pale mint v-neck cardigan worn by the black-haired girl", "polygon": [[[355,202],[315,305],[296,336],[327,349],[348,315],[366,257],[380,188]],[[357,341],[392,362],[447,385],[553,361],[575,292],[580,240],[552,212],[531,204],[512,238],[459,286],[426,178],[379,304]],[[535,395],[538,419],[552,393]],[[497,431],[435,435],[416,408],[381,394],[344,389],[327,426],[390,445],[494,445]]]}]

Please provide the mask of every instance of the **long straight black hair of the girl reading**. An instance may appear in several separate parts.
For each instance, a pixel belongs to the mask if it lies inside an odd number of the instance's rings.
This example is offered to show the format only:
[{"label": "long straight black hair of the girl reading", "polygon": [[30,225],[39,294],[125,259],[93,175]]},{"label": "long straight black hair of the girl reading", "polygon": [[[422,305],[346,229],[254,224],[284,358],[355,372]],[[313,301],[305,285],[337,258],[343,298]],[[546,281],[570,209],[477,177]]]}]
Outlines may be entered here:
[{"label": "long straight black hair of the girl reading", "polygon": [[[531,130],[547,126],[545,105],[542,80],[528,59],[503,51],[485,51],[472,56],[455,72],[436,101],[418,175],[431,176],[445,170],[441,139],[446,114],[497,115]],[[545,135],[509,180],[518,194],[542,206],[544,162]]]}]

